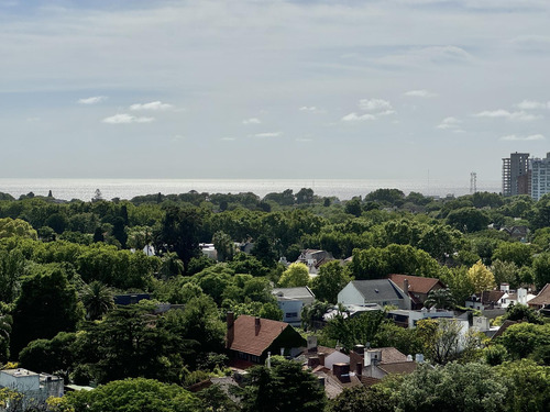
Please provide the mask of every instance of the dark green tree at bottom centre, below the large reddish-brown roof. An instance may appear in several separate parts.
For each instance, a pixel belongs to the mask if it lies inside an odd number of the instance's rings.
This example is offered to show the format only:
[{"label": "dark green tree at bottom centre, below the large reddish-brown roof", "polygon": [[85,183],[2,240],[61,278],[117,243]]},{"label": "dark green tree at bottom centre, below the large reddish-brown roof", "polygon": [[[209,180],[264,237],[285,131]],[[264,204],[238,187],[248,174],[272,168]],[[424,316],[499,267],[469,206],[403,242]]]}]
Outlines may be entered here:
[{"label": "dark green tree at bottom centre, below the large reddish-brown roof", "polygon": [[242,393],[244,412],[319,412],[327,404],[317,378],[292,360],[275,361],[270,369],[250,369],[249,385]]}]

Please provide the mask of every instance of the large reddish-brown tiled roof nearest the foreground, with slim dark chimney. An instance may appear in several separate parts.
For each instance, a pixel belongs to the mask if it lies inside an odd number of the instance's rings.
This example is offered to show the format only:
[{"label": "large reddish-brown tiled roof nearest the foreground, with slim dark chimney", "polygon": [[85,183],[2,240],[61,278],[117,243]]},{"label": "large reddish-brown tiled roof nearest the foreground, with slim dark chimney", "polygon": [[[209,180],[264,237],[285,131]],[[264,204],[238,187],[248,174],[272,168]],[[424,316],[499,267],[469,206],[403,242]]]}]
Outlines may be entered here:
[{"label": "large reddish-brown tiled roof nearest the foreground, with slim dark chimney", "polygon": [[256,318],[240,315],[231,326],[233,338],[229,349],[262,356],[287,327],[294,331],[293,326],[285,322],[261,318],[257,318],[257,321],[256,326]]}]

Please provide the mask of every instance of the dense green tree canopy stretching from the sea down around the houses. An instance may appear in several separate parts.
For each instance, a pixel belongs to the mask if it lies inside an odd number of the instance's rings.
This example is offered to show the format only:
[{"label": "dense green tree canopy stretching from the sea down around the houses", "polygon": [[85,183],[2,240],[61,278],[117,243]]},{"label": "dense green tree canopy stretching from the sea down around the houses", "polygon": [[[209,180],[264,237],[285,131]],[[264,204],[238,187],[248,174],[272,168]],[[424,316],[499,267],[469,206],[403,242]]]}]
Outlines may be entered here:
[{"label": "dense green tree canopy stretching from the sea down around the houses", "polygon": [[[202,255],[200,243],[213,243],[219,261]],[[254,247],[245,254],[235,243]],[[154,256],[142,252],[145,246],[154,248]],[[305,248],[324,249],[337,260],[321,266],[314,280],[304,265],[279,263],[282,257],[295,261]],[[344,265],[341,260],[349,257]],[[436,371],[421,368],[410,378],[387,381],[373,391],[345,392],[337,401],[327,402],[324,394],[311,389],[307,376],[280,359],[276,370],[252,374],[248,389],[239,394],[239,405],[216,389],[205,397],[183,389],[227,372],[223,318],[228,310],[280,320],[273,287],[307,285],[318,299],[302,316],[304,327],[311,333],[350,279],[395,272],[441,279],[450,288],[449,300],[459,305],[499,282],[540,289],[550,282],[550,197],[534,202],[528,197],[475,193],[439,200],[380,189],[339,201],[301,189],[263,199],[253,193],[191,191],[62,202],[34,196],[15,200],[0,193],[0,363],[19,361],[82,385],[105,383],[95,394],[68,397],[69,407],[77,411],[120,410],[109,409],[109,402],[100,399],[111,397],[116,403],[114,394],[121,390],[172,393],[186,405],[180,410],[268,410],[263,409],[266,393],[278,397],[282,404],[288,399],[310,402],[311,410],[355,411],[360,409],[351,405],[360,404],[373,411],[499,411],[505,403],[486,408],[498,397],[512,397],[506,410],[521,410],[514,402],[519,405],[525,400],[521,385],[531,378],[507,372],[515,368],[538,374],[548,388],[548,325],[532,311],[516,309],[505,319],[529,322],[512,326],[492,345],[472,339],[471,352],[463,357],[453,352],[448,358],[438,355],[437,325],[429,322],[408,331],[383,314],[337,315],[324,330],[315,332],[321,343],[339,342],[350,349],[372,342],[407,354],[425,353],[432,364],[450,365]],[[143,292],[151,299],[117,308],[113,297],[125,292]],[[182,308],[163,312],[163,302]],[[452,366],[453,361],[465,366]],[[469,366],[472,361],[475,365]],[[437,401],[426,403],[427,392],[418,388],[427,374],[435,374],[432,382],[461,377],[452,387],[458,392],[474,390],[469,382],[480,374],[495,383],[479,381],[486,392],[474,398],[487,401],[465,404],[461,400],[448,408],[449,397],[438,392],[440,387],[426,386],[428,392],[438,393]],[[132,380],[120,382],[125,378]],[[306,386],[297,386],[297,379]],[[518,389],[509,389],[512,381]],[[285,392],[280,382],[296,385],[294,392]],[[314,393],[314,399],[299,398],[304,391]],[[538,404],[548,397],[540,399]],[[150,400],[156,402],[153,394]],[[392,409],[383,409],[381,402]],[[411,407],[415,402],[417,409]],[[170,408],[165,410],[178,410]],[[292,402],[277,408],[308,410]]]}]

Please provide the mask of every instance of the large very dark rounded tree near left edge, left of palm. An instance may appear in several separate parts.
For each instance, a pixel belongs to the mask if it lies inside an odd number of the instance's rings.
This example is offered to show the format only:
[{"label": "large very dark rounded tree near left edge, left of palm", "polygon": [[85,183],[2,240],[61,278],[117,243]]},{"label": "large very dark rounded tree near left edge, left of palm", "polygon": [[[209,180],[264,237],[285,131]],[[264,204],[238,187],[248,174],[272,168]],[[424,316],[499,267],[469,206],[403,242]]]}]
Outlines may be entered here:
[{"label": "large very dark rounded tree near left edge, left of palm", "polygon": [[21,285],[13,310],[12,353],[18,354],[36,338],[74,332],[84,308],[67,272],[59,265],[36,265]]}]

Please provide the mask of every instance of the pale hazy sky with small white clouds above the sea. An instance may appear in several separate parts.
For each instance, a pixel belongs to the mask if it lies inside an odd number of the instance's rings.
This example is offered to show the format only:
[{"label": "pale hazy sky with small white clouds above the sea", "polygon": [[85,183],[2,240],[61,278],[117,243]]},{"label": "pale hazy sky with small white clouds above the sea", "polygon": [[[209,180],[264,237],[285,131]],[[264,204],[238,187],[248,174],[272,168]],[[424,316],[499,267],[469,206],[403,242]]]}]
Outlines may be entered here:
[{"label": "pale hazy sky with small white clouds above the sea", "polygon": [[498,180],[548,0],[0,0],[0,177]]}]

